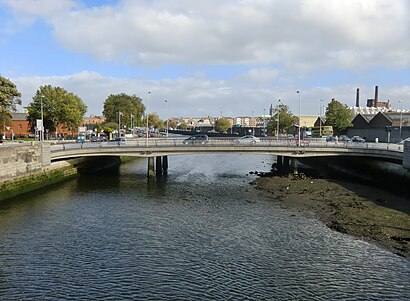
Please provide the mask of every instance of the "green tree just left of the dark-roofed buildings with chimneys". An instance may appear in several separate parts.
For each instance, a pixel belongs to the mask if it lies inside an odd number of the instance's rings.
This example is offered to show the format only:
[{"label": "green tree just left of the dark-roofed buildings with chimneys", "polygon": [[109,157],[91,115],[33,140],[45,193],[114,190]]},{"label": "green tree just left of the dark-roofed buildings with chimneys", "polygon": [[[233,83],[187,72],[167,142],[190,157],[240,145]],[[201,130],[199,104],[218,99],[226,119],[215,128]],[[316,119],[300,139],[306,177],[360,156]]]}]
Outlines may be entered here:
[{"label": "green tree just left of the dark-roofed buildings with chimneys", "polygon": [[333,126],[336,133],[345,131],[352,126],[353,113],[347,105],[332,99],[326,108],[326,125]]}]

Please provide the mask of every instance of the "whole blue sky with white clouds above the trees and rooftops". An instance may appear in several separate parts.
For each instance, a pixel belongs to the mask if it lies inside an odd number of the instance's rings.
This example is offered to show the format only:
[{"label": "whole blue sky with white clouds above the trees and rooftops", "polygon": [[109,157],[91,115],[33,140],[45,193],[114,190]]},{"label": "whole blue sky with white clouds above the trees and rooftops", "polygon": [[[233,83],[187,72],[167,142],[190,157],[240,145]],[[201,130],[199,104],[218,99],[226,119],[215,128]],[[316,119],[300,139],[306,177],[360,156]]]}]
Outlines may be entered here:
[{"label": "whole blue sky with white clouds above the trees and rooftops", "polygon": [[[101,115],[110,94],[169,117],[318,115],[335,98],[410,109],[408,0],[0,0],[0,75]],[[297,93],[299,91],[300,93]],[[166,100],[166,102],[165,102]]]}]

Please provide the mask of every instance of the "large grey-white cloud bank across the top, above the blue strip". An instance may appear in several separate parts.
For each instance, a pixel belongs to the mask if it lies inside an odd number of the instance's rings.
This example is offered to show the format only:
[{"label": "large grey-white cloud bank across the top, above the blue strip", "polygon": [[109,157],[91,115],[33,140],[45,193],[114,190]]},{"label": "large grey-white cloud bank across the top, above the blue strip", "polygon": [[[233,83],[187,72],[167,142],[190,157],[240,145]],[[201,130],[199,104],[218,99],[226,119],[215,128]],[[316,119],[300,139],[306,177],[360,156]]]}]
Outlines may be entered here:
[{"label": "large grey-white cloud bank across the top, above the blue strip", "polygon": [[133,66],[277,64],[294,70],[410,66],[406,0],[3,0],[40,16],[66,48]]}]

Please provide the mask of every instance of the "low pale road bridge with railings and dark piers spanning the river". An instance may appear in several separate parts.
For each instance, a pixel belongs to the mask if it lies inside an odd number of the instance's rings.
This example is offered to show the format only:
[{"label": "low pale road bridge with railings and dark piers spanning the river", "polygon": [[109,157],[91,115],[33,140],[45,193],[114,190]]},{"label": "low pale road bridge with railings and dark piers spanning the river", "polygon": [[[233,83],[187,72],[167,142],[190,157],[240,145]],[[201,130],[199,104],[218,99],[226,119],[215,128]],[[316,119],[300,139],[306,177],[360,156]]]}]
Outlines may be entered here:
[{"label": "low pale road bridge with railings and dark piers spanning the river", "polygon": [[[211,139],[204,144],[184,144],[183,138],[150,138],[122,142],[58,143],[50,147],[51,161],[79,157],[130,156],[148,158],[148,174],[168,168],[167,157],[183,154],[239,153],[270,154],[278,156],[279,165],[289,164],[297,168],[297,160],[307,157],[355,156],[368,157],[403,164],[404,146],[388,143],[325,142],[320,140],[262,139],[257,143],[241,144],[232,139]],[[283,159],[282,159],[283,158]],[[283,161],[282,161],[283,160]],[[404,165],[404,164],[403,164]],[[410,167],[406,167],[410,168]]]}]

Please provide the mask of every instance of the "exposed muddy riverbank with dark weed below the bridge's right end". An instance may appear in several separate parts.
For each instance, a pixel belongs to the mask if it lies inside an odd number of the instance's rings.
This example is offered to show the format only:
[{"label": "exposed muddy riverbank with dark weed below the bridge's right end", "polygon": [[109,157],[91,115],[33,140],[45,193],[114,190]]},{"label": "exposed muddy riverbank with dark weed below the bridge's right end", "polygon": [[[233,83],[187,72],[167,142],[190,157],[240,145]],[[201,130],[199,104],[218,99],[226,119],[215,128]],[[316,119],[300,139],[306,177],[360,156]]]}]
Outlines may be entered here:
[{"label": "exposed muddy riverbank with dark weed below the bridge's right end", "polygon": [[360,184],[313,177],[252,182],[280,208],[317,218],[331,229],[410,258],[410,200]]}]

